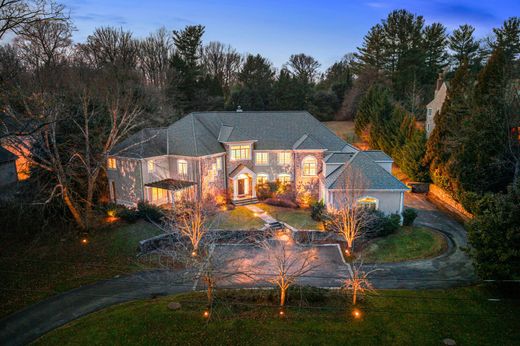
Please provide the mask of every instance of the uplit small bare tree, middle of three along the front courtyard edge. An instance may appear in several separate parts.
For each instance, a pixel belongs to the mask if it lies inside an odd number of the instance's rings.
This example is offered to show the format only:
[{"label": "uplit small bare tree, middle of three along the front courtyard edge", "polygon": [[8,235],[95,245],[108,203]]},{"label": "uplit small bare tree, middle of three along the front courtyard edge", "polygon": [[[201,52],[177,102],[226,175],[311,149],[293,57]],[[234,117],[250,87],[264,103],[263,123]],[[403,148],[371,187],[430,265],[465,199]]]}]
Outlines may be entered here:
[{"label": "uplit small bare tree, middle of three along the front courtyard edge", "polygon": [[281,240],[267,239],[260,246],[265,250],[268,268],[259,267],[256,270],[265,272],[265,281],[276,287],[280,292],[280,307],[285,306],[287,290],[305,274],[317,268],[315,249],[298,246],[290,238]]}]

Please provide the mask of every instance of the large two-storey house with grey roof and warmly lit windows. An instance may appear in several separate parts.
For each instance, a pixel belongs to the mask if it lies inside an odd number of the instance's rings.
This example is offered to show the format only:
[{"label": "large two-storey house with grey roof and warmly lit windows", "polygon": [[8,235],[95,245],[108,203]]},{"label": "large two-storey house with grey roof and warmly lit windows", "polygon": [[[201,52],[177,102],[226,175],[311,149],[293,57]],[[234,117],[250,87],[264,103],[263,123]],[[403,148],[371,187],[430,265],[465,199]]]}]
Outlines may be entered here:
[{"label": "large two-storey house with grey roof and warmly lit windows", "polygon": [[408,188],[391,174],[392,162],[381,151],[359,151],[308,112],[239,110],[143,129],[114,148],[107,172],[111,199],[124,205],[175,203],[186,191],[253,203],[258,184],[279,181],[299,203],[333,207],[355,169],[364,177],[359,203],[401,213]]}]

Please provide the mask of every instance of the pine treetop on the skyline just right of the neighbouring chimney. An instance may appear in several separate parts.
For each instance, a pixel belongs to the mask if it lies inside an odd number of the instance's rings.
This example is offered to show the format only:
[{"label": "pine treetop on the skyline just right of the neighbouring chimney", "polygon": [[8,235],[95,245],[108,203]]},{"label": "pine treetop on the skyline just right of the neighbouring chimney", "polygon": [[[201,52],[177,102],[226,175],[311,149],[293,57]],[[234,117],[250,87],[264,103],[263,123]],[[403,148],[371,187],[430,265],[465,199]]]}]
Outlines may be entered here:
[{"label": "pine treetop on the skyline just right of the neighbouring chimney", "polygon": [[457,67],[464,61],[468,63],[471,70],[475,70],[480,65],[480,43],[473,37],[474,32],[474,27],[464,24],[454,30],[448,39],[448,46]]}]

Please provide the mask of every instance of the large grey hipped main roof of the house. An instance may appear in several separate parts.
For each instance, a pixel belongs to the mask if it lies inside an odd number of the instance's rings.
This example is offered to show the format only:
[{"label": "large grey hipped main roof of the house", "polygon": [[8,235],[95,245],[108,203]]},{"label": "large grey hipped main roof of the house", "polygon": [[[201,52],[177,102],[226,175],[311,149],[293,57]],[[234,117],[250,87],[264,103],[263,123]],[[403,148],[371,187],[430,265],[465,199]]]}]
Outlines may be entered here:
[{"label": "large grey hipped main roof of the house", "polygon": [[[155,135],[154,140],[146,141],[151,135]],[[196,112],[167,130],[139,131],[120,143],[112,155],[205,156],[225,152],[222,142],[240,141],[255,141],[258,150],[291,150],[299,140],[297,149],[351,150],[308,112]]]}]

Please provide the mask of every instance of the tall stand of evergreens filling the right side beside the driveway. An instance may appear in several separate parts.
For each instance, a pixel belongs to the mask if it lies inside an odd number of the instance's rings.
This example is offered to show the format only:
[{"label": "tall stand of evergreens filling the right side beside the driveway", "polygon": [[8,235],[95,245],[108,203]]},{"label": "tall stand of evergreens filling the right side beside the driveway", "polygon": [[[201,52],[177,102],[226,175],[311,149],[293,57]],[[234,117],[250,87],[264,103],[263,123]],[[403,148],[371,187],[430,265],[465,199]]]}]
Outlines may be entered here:
[{"label": "tall stand of evergreens filling the right side beside the driveway", "polygon": [[[506,20],[484,42],[468,25],[448,38],[439,25],[421,28],[421,17],[396,11],[365,37],[358,61],[372,80],[357,107],[356,131],[392,155],[411,179],[431,179],[475,215],[468,223],[468,252],[482,277],[518,277],[520,19]],[[427,37],[437,37],[436,44]],[[426,47],[442,48],[441,42],[451,57],[434,49],[442,54],[425,60],[433,53]],[[414,102],[441,70],[447,97],[426,140]],[[417,89],[417,83],[424,84]]]}]

